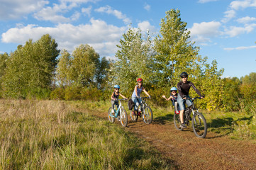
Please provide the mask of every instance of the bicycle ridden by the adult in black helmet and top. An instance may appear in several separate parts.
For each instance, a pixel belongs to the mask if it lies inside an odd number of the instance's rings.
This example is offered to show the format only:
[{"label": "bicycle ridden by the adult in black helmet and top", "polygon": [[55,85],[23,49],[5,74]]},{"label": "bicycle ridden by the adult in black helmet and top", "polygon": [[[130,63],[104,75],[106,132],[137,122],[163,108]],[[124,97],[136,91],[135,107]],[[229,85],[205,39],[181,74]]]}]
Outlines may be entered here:
[{"label": "bicycle ridden by the adult in black helmet and top", "polygon": [[[194,106],[194,100],[201,99],[200,97],[191,98],[192,106],[187,107],[184,110],[184,123],[189,125],[189,121],[192,121],[193,132],[196,137],[204,138],[207,134],[206,118],[202,113],[199,113],[198,109]],[[191,118],[191,113],[193,117]],[[183,130],[180,128],[179,113],[174,112],[174,126],[177,130]]]}]

